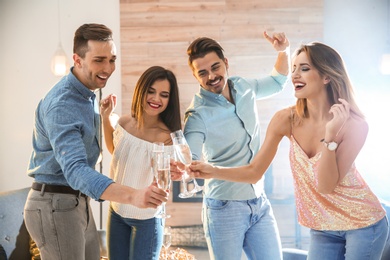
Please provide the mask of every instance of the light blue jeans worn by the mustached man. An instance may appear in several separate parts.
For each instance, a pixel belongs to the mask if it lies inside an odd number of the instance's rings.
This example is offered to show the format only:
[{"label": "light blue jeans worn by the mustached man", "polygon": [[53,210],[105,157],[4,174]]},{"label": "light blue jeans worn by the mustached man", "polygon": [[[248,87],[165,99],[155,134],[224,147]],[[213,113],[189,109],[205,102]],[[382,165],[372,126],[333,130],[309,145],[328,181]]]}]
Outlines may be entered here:
[{"label": "light blue jeans worn by the mustached man", "polygon": [[251,200],[204,199],[203,227],[211,260],[282,259],[278,227],[265,195]]}]

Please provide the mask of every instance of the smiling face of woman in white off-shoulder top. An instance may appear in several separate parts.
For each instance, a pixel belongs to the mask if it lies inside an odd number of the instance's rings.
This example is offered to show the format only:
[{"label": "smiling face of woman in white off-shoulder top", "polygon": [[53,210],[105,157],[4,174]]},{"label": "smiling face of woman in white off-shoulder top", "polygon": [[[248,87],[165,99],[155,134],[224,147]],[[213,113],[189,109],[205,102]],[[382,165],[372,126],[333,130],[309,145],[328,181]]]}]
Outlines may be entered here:
[{"label": "smiling face of woman in white off-shoulder top", "polygon": [[168,106],[170,89],[168,80],[156,80],[148,88],[144,103],[145,113],[149,115],[162,113]]}]

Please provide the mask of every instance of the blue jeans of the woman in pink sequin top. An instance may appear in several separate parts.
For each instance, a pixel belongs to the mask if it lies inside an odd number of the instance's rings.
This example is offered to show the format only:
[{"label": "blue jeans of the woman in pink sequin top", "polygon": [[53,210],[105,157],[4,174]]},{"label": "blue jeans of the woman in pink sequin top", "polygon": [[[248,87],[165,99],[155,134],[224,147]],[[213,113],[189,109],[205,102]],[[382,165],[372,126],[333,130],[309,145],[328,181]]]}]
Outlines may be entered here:
[{"label": "blue jeans of the woman in pink sequin top", "polygon": [[378,260],[388,236],[387,218],[348,231],[310,230],[308,260]]}]

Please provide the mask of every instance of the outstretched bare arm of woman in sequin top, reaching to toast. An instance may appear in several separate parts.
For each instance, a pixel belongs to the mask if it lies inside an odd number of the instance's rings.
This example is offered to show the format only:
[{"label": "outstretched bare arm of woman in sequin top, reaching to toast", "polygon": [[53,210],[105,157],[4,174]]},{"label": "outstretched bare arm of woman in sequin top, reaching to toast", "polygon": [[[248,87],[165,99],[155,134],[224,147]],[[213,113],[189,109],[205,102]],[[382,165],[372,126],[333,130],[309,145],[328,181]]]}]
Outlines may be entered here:
[{"label": "outstretched bare arm of woman in sequin top, reaching to toast", "polygon": [[274,115],[268,126],[264,143],[250,164],[240,167],[219,167],[196,161],[189,167],[190,174],[196,178],[204,179],[215,178],[246,183],[258,182],[274,159],[283,136],[288,136],[290,132],[289,113],[289,110],[286,109]]}]

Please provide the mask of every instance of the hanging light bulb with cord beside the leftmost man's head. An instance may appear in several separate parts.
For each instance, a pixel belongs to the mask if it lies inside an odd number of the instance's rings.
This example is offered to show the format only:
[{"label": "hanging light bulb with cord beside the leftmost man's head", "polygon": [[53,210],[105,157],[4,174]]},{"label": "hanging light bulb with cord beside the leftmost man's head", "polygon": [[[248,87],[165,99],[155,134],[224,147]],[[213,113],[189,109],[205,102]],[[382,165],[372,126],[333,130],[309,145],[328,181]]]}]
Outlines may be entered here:
[{"label": "hanging light bulb with cord beside the leftmost man's head", "polygon": [[51,59],[51,71],[56,76],[64,76],[69,71],[68,58],[61,44],[61,28],[60,28],[60,1],[57,2],[58,7],[58,47]]}]

